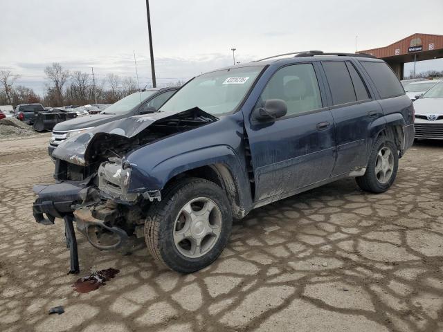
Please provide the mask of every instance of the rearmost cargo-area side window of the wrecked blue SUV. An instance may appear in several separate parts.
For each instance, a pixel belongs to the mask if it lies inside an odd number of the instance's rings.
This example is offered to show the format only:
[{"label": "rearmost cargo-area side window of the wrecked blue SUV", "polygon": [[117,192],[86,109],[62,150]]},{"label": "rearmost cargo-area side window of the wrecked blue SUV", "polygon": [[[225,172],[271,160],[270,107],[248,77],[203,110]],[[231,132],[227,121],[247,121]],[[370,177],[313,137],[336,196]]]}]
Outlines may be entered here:
[{"label": "rearmost cargo-area side window of the wrecked blue SUV", "polygon": [[403,87],[395,73],[385,62],[361,62],[370,75],[381,98],[392,98],[404,95]]}]

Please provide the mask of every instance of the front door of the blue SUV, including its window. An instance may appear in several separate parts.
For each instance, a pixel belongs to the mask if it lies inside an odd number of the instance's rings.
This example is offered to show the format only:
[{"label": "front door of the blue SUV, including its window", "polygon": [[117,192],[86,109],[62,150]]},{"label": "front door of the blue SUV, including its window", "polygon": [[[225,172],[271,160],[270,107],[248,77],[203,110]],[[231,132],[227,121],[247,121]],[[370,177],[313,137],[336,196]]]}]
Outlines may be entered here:
[{"label": "front door of the blue SUV, including its window", "polygon": [[323,106],[313,64],[278,69],[256,107],[268,99],[284,100],[288,111],[271,122],[251,118],[246,127],[256,203],[275,201],[329,178],[335,160],[334,120]]}]

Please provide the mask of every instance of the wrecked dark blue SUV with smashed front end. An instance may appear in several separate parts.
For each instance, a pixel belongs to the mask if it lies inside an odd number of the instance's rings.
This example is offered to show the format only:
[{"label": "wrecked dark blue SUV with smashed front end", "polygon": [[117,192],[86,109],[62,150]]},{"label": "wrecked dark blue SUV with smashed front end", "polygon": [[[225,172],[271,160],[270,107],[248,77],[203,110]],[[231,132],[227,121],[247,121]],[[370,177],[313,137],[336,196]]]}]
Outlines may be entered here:
[{"label": "wrecked dark blue SUV with smashed front end", "polygon": [[347,177],[388,190],[413,116],[396,75],[370,55],[230,66],[190,80],[156,113],[65,140],[53,152],[60,183],[35,187],[35,218],[64,217],[72,250],[74,219],[102,250],[144,236],[154,259],[192,273],[254,208]]}]

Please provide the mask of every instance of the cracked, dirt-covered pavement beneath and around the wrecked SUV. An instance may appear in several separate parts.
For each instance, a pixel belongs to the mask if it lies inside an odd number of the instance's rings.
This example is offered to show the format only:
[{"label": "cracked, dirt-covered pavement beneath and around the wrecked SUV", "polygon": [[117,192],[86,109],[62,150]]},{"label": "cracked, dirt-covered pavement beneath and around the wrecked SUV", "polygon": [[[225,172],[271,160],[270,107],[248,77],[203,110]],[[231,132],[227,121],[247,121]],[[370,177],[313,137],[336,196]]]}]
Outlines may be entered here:
[{"label": "cracked, dirt-covered pavement beneath and around the wrecked SUV", "polygon": [[[141,240],[124,256],[79,235],[78,276],[60,220],[31,212],[32,185],[53,181],[47,142],[0,141],[0,331],[443,331],[443,142],[414,145],[386,194],[347,179],[251,212],[192,275]],[[71,288],[111,267],[97,291]]]}]

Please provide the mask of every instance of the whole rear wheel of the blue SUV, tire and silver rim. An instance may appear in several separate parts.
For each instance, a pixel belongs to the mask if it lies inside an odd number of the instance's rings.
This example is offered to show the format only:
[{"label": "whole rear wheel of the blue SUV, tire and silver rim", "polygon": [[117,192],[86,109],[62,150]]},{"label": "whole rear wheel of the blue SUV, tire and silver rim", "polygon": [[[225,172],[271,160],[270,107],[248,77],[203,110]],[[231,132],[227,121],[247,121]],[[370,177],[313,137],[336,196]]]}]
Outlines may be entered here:
[{"label": "whole rear wheel of the blue SUV, tire and silver rim", "polygon": [[399,167],[399,154],[394,142],[381,136],[372,147],[365,175],[356,183],[367,192],[386,192],[394,183]]}]

